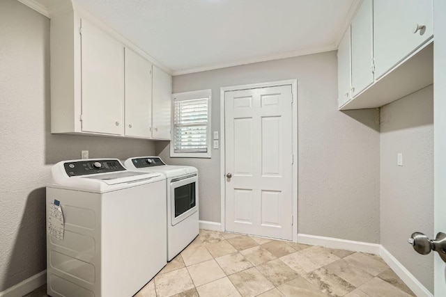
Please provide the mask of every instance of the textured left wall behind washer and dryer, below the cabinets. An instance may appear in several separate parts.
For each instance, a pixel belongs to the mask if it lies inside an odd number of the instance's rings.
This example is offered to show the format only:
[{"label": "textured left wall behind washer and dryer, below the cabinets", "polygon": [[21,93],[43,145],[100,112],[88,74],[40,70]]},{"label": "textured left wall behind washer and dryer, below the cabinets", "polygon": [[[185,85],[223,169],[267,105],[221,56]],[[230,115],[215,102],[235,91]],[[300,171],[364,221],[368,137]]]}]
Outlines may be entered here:
[{"label": "textured left wall behind washer and dryer, below the cabinets", "polygon": [[90,156],[127,159],[155,144],[49,134],[49,19],[0,1],[0,292],[43,271],[45,184],[52,164]]}]

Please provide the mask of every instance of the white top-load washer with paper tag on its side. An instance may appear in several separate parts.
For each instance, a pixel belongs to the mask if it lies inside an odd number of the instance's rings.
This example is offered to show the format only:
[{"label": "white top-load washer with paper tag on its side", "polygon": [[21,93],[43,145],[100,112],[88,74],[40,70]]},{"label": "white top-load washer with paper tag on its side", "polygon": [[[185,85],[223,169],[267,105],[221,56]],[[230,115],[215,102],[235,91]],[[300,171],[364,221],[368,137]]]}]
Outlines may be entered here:
[{"label": "white top-load washer with paper tag on its side", "polygon": [[[47,294],[130,297],[166,265],[166,178],[118,159],[62,161],[47,186],[63,239],[47,232]],[[51,217],[51,218],[50,218]]]}]

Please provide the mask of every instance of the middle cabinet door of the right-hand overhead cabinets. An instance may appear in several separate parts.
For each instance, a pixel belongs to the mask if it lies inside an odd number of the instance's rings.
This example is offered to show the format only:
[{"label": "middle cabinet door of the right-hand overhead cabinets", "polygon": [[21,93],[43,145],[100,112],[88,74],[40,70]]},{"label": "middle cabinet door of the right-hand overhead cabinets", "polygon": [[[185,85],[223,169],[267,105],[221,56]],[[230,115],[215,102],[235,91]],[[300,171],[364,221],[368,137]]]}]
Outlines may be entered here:
[{"label": "middle cabinet door of the right-hand overhead cabinets", "polygon": [[351,24],[352,97],[361,93],[374,82],[372,70],[374,57],[373,9],[373,0],[362,1]]}]

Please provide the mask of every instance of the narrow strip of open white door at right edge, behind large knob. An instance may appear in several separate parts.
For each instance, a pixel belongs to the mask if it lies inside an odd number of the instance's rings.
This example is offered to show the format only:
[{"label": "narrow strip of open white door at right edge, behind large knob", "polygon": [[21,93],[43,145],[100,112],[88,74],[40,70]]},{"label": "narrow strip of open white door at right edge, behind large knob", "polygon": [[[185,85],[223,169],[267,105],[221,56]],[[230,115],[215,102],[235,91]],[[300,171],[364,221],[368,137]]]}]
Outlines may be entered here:
[{"label": "narrow strip of open white door at right edge, behind large knob", "polygon": [[[446,1],[434,0],[433,142],[434,229],[446,233]],[[446,265],[435,257],[435,296],[446,296]]]}]

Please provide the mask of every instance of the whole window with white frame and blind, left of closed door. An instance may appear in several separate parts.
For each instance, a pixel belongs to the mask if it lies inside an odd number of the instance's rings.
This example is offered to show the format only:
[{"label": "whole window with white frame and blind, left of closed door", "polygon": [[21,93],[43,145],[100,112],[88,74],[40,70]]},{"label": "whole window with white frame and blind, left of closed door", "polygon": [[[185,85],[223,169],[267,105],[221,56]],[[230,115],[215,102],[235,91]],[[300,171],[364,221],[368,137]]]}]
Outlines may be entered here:
[{"label": "whole window with white frame and blind, left of closed door", "polygon": [[210,158],[210,90],[172,95],[171,157]]}]

